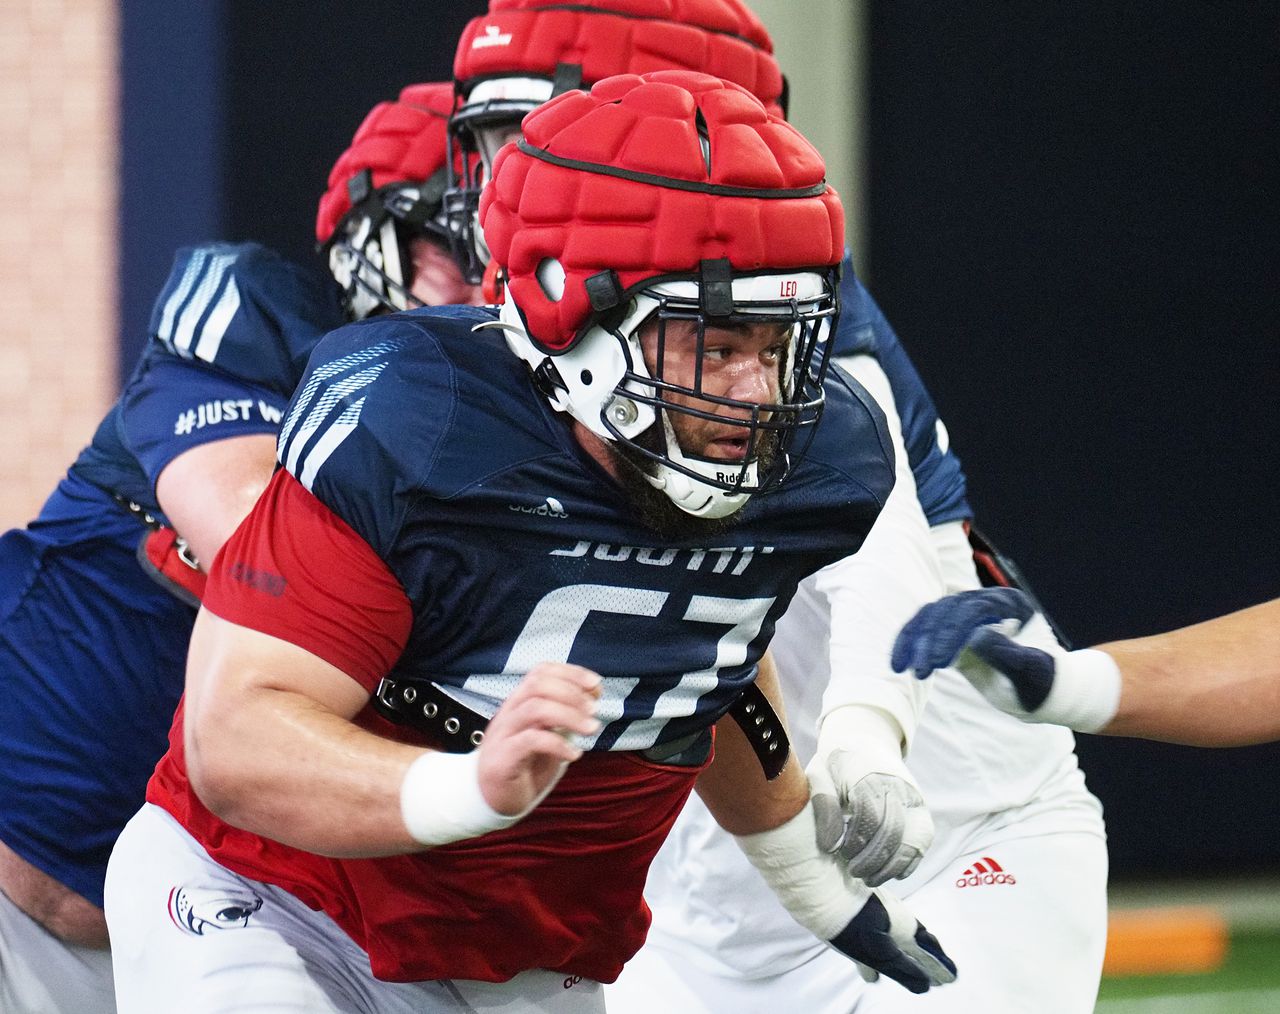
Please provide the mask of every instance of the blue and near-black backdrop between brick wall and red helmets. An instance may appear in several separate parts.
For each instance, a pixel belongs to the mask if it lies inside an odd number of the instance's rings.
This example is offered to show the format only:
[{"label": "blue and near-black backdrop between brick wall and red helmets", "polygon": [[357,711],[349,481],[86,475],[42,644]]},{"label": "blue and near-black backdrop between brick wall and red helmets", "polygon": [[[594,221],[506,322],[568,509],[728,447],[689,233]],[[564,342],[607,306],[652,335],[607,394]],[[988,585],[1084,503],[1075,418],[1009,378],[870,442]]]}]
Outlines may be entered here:
[{"label": "blue and near-black backdrop between brick wall and red helmets", "polygon": [[486,6],[122,4],[122,375],[177,247],[255,239],[324,270],[329,169],[374,105],[452,77],[462,27]]}]

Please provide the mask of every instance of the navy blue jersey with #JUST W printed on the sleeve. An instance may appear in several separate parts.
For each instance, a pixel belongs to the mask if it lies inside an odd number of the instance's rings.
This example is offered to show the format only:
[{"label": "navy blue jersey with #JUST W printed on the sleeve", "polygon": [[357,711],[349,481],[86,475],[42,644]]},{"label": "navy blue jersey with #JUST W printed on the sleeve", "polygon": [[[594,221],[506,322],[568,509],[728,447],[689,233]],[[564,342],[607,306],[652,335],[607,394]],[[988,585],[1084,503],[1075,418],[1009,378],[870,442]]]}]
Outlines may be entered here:
[{"label": "navy blue jersey with #JUST W printed on the sleeve", "polygon": [[0,536],[0,840],[101,905],[182,691],[195,611],[138,566],[155,481],[209,440],[274,433],[333,292],[259,246],[178,254],[137,370],[26,529]]}]

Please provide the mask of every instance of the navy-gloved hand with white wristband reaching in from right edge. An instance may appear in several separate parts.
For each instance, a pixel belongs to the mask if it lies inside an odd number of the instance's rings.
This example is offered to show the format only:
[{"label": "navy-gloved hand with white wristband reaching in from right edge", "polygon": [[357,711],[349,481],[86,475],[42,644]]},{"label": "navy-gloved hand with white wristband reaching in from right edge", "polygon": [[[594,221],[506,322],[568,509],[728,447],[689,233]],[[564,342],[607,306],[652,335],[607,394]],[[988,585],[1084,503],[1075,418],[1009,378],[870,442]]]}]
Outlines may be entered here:
[{"label": "navy-gloved hand with white wristband reaching in from right edge", "polygon": [[1106,726],[1120,703],[1120,672],[1111,657],[1068,652],[1014,588],[960,592],[929,603],[899,631],[892,664],[920,680],[955,666],[1002,712],[1080,732]]}]

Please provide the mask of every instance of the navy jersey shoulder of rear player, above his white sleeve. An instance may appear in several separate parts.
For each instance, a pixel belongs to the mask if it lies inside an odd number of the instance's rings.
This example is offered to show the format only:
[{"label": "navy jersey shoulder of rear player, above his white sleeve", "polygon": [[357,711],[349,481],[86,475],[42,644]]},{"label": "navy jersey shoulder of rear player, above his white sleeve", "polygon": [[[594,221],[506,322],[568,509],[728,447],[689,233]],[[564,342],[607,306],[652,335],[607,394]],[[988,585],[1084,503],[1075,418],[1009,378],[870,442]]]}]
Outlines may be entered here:
[{"label": "navy jersey shoulder of rear player, above his white sleeve", "polygon": [[972,517],[964,470],[946,442],[945,430],[940,431],[938,410],[933,407],[933,399],[897,334],[854,274],[852,260],[847,256],[840,283],[840,324],[832,352],[837,357],[874,356],[884,370],[902,420],[906,457],[915,476],[920,506],[929,524]]}]

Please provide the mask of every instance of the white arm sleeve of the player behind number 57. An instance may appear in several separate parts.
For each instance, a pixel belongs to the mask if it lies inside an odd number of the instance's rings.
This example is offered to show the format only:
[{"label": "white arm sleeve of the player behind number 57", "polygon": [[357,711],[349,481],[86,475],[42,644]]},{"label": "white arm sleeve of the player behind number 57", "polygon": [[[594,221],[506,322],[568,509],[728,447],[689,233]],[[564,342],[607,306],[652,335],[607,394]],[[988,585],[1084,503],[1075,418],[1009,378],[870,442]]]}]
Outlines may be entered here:
[{"label": "white arm sleeve of the player behind number 57", "polygon": [[822,712],[826,716],[849,704],[878,709],[902,730],[905,748],[924,709],[928,680],[904,680],[895,673],[890,650],[902,625],[922,606],[941,598],[946,584],[911,476],[888,378],[870,356],[846,357],[840,365],[884,411],[897,475],[863,548],[814,577],[815,590],[831,611],[831,681]]}]

